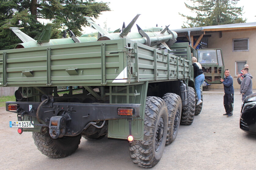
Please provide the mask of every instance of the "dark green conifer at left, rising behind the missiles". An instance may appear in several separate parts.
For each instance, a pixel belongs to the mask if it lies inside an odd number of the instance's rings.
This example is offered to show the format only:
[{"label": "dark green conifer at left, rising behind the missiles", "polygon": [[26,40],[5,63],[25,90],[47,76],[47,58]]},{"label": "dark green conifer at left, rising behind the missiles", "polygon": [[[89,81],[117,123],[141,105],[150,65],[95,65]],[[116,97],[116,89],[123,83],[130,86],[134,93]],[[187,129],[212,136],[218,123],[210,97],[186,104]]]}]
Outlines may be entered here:
[{"label": "dark green conifer at left, rising behind the missiles", "polygon": [[22,42],[9,27],[24,27],[22,32],[36,40],[45,25],[42,19],[48,19],[54,23],[51,39],[64,30],[80,36],[89,25],[83,16],[98,18],[103,11],[110,11],[108,3],[95,0],[0,0],[0,50]]}]

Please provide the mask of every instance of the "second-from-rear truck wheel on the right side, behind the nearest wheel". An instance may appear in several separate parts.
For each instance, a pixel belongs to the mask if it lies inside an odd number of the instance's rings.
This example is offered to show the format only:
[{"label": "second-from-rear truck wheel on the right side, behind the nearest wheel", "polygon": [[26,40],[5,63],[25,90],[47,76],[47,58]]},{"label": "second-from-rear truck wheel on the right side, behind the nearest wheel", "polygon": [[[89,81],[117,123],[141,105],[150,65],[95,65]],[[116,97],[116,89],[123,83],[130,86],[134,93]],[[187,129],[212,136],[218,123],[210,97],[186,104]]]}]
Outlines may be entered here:
[{"label": "second-from-rear truck wheel on the right side, behind the nearest wheel", "polygon": [[182,104],[180,96],[174,93],[166,93],[162,99],[168,109],[168,131],[165,145],[169,145],[175,140],[179,130]]}]

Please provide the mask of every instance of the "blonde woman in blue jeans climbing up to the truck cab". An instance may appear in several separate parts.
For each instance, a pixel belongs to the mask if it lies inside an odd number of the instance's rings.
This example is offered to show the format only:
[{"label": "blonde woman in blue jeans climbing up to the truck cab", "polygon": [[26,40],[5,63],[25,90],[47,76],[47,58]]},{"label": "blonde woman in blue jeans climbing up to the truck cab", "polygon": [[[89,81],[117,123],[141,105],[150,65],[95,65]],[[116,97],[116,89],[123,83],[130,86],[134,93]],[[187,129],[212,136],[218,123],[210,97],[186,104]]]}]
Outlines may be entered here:
[{"label": "blonde woman in blue jeans climbing up to the truck cab", "polygon": [[197,59],[195,57],[192,57],[192,65],[194,67],[194,78],[195,78],[195,91],[198,97],[198,102],[196,105],[199,105],[202,103],[201,100],[201,90],[200,86],[202,85],[204,81],[204,74],[202,71],[202,66],[199,62],[197,62]]}]

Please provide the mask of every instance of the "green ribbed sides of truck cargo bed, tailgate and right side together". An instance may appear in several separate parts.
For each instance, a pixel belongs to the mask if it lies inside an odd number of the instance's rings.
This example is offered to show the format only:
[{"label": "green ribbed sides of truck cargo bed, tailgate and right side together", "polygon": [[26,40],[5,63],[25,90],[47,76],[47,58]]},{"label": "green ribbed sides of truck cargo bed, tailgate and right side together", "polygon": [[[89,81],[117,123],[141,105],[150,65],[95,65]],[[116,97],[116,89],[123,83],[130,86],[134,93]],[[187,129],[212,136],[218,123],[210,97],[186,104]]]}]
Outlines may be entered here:
[{"label": "green ribbed sides of truck cargo bed, tailgate and right side together", "polygon": [[[132,50],[128,50],[129,47]],[[0,51],[4,86],[114,86],[190,77],[190,61],[128,39]]]}]

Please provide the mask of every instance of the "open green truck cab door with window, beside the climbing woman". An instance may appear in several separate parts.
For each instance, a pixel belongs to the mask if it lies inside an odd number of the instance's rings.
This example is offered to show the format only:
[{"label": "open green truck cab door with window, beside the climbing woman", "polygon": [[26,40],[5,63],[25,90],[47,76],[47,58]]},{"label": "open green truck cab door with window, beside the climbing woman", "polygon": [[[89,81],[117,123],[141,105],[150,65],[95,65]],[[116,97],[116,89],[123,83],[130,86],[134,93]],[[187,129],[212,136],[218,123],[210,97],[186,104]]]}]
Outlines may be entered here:
[{"label": "open green truck cab door with window, beside the climbing woman", "polygon": [[208,84],[220,84],[224,77],[224,62],[221,49],[198,49],[197,62],[202,66]]}]

